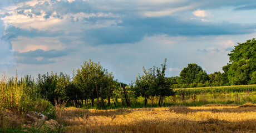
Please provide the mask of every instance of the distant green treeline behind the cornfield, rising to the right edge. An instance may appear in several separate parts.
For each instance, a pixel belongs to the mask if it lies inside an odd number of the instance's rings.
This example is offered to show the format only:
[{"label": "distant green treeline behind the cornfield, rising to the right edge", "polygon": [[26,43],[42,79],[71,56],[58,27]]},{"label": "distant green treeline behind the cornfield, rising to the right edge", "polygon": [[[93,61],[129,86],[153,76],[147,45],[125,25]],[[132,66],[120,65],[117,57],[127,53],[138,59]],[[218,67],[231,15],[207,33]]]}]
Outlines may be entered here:
[{"label": "distant green treeline behind the cornfield, rising to the right edge", "polygon": [[180,76],[168,78],[172,88],[256,84],[256,40],[238,43],[231,51],[229,63],[223,66],[224,73],[207,74],[201,66],[188,64]]}]

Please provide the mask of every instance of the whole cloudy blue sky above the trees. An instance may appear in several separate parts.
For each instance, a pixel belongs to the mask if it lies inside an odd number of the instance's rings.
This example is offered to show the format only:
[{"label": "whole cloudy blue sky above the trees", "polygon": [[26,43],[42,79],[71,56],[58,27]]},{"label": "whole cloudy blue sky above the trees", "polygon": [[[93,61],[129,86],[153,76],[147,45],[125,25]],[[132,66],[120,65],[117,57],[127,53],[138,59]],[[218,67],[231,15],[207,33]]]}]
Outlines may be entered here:
[{"label": "whole cloudy blue sky above the trees", "polygon": [[167,58],[166,76],[189,63],[210,74],[255,38],[255,11],[253,0],[1,0],[0,73],[72,76],[91,59],[130,83]]}]

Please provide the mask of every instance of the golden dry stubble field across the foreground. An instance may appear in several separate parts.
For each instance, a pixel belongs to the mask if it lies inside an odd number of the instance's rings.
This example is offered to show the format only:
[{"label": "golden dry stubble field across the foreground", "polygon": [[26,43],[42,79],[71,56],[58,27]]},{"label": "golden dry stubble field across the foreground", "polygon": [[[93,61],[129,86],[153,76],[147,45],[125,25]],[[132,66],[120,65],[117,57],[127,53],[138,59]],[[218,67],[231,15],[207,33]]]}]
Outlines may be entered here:
[{"label": "golden dry stubble field across the foreground", "polygon": [[62,110],[65,132],[256,132],[256,106]]}]

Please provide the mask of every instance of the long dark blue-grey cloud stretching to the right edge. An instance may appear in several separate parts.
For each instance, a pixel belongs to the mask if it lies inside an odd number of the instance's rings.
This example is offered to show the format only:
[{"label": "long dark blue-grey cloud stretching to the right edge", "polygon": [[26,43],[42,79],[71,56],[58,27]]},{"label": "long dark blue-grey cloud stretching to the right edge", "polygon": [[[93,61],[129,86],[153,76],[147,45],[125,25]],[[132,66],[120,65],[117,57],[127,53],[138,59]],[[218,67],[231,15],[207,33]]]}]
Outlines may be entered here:
[{"label": "long dark blue-grey cloud stretching to the right edge", "polygon": [[145,35],[235,35],[255,32],[256,24],[180,21],[172,17],[124,19],[113,27],[85,30],[83,39],[95,44],[135,43]]}]

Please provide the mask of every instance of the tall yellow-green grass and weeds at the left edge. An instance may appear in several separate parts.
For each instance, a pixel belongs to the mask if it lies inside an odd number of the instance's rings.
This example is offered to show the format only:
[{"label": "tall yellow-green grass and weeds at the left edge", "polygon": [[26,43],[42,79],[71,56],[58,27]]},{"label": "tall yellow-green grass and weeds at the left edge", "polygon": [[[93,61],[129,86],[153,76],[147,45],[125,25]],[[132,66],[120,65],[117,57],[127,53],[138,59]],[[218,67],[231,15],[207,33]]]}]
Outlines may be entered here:
[{"label": "tall yellow-green grass and weeds at the left edge", "polygon": [[28,122],[27,115],[32,112],[40,112],[55,117],[55,108],[47,100],[41,99],[35,93],[35,81],[32,76],[24,76],[19,79],[0,77],[0,129],[8,127],[21,127]]}]

